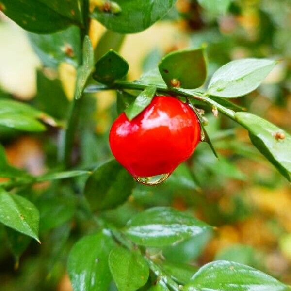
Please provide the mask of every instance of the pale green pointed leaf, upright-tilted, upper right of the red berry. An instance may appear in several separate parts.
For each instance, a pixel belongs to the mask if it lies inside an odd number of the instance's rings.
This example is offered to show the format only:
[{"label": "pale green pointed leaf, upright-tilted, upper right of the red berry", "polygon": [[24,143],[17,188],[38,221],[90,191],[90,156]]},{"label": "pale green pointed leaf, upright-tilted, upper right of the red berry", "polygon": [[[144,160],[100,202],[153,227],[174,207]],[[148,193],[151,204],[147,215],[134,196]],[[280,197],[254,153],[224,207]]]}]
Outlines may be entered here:
[{"label": "pale green pointed leaf, upright-tilted, upper right of the red berry", "polygon": [[206,93],[226,98],[246,95],[259,87],[276,64],[255,58],[229,62],[214,73]]}]

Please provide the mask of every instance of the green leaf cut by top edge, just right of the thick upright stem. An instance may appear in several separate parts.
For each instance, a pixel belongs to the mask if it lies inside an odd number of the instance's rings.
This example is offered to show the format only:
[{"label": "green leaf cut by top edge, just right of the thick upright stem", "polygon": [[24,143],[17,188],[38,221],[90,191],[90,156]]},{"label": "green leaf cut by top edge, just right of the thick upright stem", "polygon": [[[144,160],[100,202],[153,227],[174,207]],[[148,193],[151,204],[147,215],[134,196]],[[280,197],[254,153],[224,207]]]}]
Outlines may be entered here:
[{"label": "green leaf cut by top edge, just right of the thick upright stem", "polygon": [[95,8],[92,17],[115,32],[141,32],[165,16],[175,2],[176,0],[118,0],[115,4],[118,3],[120,7],[119,13],[102,11],[101,6]]}]

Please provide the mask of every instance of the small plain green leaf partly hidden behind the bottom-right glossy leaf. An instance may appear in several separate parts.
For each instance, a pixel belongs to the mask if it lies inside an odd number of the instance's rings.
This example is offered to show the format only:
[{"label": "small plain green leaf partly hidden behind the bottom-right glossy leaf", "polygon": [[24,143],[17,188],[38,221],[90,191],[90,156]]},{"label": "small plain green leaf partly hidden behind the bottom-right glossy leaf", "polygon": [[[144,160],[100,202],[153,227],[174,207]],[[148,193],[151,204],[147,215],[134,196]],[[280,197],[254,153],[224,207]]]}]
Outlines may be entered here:
[{"label": "small plain green leaf partly hidden behind the bottom-right glossy leaf", "polygon": [[161,264],[161,268],[173,280],[183,285],[187,284],[197,271],[197,267],[167,261]]}]

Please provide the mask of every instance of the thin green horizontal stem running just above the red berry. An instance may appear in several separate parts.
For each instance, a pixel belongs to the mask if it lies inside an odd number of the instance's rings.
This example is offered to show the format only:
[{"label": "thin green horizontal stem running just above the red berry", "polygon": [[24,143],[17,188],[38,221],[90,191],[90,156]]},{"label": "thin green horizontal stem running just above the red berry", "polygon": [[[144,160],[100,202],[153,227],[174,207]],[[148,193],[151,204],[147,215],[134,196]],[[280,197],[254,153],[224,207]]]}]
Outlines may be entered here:
[{"label": "thin green horizontal stem running just above the red berry", "polygon": [[[125,90],[125,89],[132,89],[132,90],[144,90],[146,87],[148,87],[150,84],[146,83],[140,83],[140,82],[128,82],[128,81],[117,81],[112,86],[106,86],[106,85],[93,85],[88,87],[85,92],[97,92],[102,90]],[[194,98],[196,100],[199,100],[203,103],[206,103],[207,105],[210,105],[211,107],[215,106],[217,107],[218,111],[225,114],[227,117],[231,119],[235,119],[234,117],[234,111],[231,109],[228,109],[216,101],[209,98],[207,95],[203,95],[202,93],[194,90],[186,90],[181,88],[168,88],[166,85],[155,85],[157,87],[157,91],[161,93],[166,93],[169,95],[176,95],[176,96],[183,96],[183,97],[189,97]]]}]

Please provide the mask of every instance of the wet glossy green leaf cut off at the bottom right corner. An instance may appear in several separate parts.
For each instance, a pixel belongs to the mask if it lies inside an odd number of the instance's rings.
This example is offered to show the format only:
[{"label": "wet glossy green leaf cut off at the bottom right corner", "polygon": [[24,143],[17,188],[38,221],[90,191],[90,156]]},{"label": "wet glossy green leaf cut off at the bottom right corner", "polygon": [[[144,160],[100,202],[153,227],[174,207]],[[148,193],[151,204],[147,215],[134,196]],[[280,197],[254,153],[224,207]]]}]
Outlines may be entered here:
[{"label": "wet glossy green leaf cut off at the bottom right corner", "polygon": [[290,288],[254,268],[229,261],[211,262],[192,277],[185,291],[288,291]]}]

